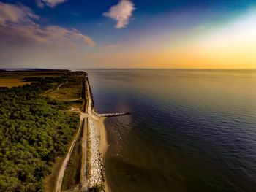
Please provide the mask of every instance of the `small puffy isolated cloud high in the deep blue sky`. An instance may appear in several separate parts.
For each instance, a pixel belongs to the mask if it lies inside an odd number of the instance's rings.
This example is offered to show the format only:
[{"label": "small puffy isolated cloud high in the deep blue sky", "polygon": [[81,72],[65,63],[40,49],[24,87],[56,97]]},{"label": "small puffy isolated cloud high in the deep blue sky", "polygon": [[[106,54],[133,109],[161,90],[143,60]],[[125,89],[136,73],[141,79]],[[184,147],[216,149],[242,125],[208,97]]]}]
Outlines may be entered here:
[{"label": "small puffy isolated cloud high in the deep blue sky", "polygon": [[135,10],[135,6],[132,1],[121,0],[118,4],[110,7],[108,12],[104,12],[103,15],[113,20],[117,20],[116,28],[123,28],[129,23],[129,18],[132,17],[132,12]]}]

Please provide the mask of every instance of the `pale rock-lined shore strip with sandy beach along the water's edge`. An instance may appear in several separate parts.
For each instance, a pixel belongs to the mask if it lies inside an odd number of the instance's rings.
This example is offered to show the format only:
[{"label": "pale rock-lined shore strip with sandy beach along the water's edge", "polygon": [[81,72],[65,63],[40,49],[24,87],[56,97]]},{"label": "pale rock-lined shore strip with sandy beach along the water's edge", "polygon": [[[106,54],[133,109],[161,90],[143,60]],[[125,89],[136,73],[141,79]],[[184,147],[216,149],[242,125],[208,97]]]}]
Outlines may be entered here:
[{"label": "pale rock-lined shore strip with sandy beach along the water's edge", "polygon": [[105,184],[105,153],[108,150],[108,139],[105,130],[104,115],[94,112],[94,101],[91,93],[89,80],[86,79],[86,112],[88,113],[88,134],[87,134],[87,179],[89,188],[94,185],[105,185],[105,191],[108,185]]}]

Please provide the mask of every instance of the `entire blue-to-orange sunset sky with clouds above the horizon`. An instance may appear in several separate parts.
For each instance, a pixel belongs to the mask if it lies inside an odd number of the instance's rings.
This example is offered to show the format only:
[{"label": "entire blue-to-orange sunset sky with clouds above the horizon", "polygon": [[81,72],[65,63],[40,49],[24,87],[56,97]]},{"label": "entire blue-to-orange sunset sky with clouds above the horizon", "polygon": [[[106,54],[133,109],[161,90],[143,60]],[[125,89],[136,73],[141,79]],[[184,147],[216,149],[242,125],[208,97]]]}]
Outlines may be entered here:
[{"label": "entire blue-to-orange sunset sky with clouds above the horizon", "polygon": [[0,68],[256,68],[253,0],[0,0]]}]

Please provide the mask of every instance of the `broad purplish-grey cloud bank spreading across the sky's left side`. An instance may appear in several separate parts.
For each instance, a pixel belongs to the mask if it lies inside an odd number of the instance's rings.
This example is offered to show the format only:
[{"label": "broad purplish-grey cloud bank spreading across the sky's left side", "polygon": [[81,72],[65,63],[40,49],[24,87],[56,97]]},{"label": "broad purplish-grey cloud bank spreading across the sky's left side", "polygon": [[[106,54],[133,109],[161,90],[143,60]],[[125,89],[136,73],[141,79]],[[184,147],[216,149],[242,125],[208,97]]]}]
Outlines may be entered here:
[{"label": "broad purplish-grey cloud bank spreading across the sky's left side", "polygon": [[75,29],[60,26],[40,26],[38,15],[29,7],[0,2],[0,42],[3,45],[91,45],[94,41]]}]

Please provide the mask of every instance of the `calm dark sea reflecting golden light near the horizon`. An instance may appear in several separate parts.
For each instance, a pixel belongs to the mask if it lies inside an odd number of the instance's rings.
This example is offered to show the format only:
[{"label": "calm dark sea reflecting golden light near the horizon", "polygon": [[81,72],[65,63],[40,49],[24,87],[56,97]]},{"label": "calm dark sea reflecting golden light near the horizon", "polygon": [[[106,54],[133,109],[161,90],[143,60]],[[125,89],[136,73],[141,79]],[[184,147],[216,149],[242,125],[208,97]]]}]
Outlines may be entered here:
[{"label": "calm dark sea reflecting golden light near the horizon", "polygon": [[113,192],[256,191],[256,71],[88,72]]}]

